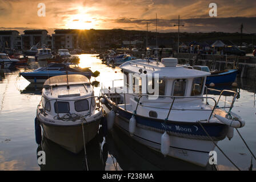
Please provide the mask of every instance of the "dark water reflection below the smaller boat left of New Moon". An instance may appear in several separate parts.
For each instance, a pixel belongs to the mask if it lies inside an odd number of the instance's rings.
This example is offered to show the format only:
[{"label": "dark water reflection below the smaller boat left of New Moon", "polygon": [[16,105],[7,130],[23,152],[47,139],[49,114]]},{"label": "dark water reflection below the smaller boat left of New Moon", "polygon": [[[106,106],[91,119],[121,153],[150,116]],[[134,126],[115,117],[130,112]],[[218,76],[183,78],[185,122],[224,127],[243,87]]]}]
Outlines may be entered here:
[{"label": "dark water reflection below the smaller boat left of New Moon", "polygon": [[[46,164],[39,165],[41,170],[86,170],[85,153],[73,154],[58,144],[43,137],[38,151],[44,151]],[[87,164],[89,171],[104,170],[105,162],[102,160],[101,143],[98,135],[86,145]]]}]

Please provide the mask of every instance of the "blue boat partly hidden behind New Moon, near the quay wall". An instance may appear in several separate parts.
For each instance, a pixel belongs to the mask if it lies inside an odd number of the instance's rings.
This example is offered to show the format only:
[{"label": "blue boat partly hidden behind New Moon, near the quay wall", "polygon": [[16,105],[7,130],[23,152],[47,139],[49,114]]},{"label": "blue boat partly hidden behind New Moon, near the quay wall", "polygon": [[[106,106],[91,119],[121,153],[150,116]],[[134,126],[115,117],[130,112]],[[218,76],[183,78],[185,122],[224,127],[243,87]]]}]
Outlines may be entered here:
[{"label": "blue boat partly hidden behind New Moon, near the quay wall", "polygon": [[[210,72],[210,69],[207,66],[193,66],[194,69],[198,69],[205,72]],[[232,84],[237,77],[237,69],[227,69],[225,71],[215,71],[210,72],[211,75],[206,77],[206,85],[214,83],[215,85],[219,84]]]}]

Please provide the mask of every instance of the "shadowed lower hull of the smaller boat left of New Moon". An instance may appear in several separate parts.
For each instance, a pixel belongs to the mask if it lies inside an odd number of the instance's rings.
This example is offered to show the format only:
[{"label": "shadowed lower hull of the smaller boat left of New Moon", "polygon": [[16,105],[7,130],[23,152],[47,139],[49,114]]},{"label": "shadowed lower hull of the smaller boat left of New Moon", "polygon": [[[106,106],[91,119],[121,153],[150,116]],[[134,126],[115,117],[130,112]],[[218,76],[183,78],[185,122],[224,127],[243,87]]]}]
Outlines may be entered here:
[{"label": "shadowed lower hull of the smaller boat left of New Moon", "polygon": [[83,150],[83,131],[85,134],[85,144],[93,139],[99,129],[100,118],[82,125],[77,126],[54,126],[47,125],[39,120],[43,128],[43,136],[59,144],[66,150],[78,154]]}]

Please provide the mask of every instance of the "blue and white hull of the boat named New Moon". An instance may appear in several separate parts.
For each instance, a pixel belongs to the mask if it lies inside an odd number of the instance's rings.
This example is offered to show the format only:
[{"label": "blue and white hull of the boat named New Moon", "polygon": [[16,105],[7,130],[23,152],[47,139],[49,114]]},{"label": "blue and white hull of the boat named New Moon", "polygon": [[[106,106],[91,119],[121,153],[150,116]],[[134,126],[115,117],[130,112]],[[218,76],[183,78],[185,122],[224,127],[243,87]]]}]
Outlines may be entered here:
[{"label": "blue and white hull of the boat named New Moon", "polygon": [[[107,98],[105,98],[107,100]],[[106,113],[112,109],[110,102],[103,105]],[[181,159],[198,166],[205,167],[209,161],[209,152],[213,151],[215,145],[207,137],[205,131],[195,122],[167,122],[163,125],[161,119],[153,119],[135,115],[137,125],[135,133],[129,133],[129,119],[133,113],[115,107],[116,110],[114,126],[123,133],[129,135],[137,142],[161,152],[161,137],[167,131],[170,137],[170,150],[168,156]],[[207,133],[218,143],[226,137],[227,126],[219,123],[205,123]]]}]

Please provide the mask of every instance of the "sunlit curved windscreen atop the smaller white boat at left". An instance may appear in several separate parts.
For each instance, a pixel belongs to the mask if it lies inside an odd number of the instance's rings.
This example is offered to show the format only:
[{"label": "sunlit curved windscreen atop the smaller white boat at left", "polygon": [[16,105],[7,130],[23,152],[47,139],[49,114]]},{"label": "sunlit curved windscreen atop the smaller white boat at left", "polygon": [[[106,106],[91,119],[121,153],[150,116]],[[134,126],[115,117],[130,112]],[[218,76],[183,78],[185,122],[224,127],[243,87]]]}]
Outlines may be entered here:
[{"label": "sunlit curved windscreen atop the smaller white boat at left", "polygon": [[[89,79],[86,76],[83,75],[68,75],[69,84],[71,82],[79,82],[79,83],[89,83]],[[67,82],[67,75],[61,75],[61,76],[54,76],[50,77],[45,81],[45,84],[43,85],[58,85],[58,84],[66,84]]]}]

